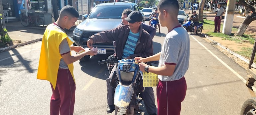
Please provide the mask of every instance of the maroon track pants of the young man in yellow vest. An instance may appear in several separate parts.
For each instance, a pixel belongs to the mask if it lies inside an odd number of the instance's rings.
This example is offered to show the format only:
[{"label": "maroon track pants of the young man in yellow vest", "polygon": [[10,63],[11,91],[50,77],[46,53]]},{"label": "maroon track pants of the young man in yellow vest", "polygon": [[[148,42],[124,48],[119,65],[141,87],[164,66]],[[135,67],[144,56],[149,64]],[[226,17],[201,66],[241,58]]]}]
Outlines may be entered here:
[{"label": "maroon track pants of the young man in yellow vest", "polygon": [[51,115],[73,115],[75,104],[75,83],[69,69],[59,69],[55,90],[51,84]]}]

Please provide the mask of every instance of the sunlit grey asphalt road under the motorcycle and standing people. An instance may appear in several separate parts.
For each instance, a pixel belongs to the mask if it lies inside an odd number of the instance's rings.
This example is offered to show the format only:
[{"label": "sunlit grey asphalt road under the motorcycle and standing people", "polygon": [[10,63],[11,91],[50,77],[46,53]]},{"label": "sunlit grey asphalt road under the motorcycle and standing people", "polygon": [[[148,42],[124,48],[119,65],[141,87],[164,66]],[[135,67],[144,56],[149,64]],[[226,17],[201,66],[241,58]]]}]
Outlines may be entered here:
[{"label": "sunlit grey asphalt road under the motorcycle and standing people", "polygon": [[[154,53],[161,50],[168,30],[154,37]],[[190,35],[187,94],[181,115],[240,114],[243,102],[255,93],[245,86],[247,74],[233,60],[196,35]],[[50,83],[36,79],[41,43],[0,52],[0,111],[2,115],[50,114]],[[74,53],[74,52],[72,52]],[[75,115],[106,114],[106,66],[98,65],[107,55],[74,63]],[[156,98],[156,87],[154,87]],[[157,101],[156,101],[157,105]]]}]

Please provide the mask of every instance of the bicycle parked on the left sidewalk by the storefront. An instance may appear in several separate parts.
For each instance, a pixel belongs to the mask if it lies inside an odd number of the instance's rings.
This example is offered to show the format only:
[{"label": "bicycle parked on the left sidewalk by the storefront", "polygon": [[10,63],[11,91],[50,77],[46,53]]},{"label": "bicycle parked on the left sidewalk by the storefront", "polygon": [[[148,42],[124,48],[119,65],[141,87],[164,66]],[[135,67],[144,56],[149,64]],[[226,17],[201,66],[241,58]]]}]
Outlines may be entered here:
[{"label": "bicycle parked on the left sidewalk by the storefront", "polygon": [[32,26],[32,24],[36,26],[44,26],[45,22],[42,18],[40,18],[38,15],[35,16],[23,16],[21,18],[21,25],[24,27]]}]

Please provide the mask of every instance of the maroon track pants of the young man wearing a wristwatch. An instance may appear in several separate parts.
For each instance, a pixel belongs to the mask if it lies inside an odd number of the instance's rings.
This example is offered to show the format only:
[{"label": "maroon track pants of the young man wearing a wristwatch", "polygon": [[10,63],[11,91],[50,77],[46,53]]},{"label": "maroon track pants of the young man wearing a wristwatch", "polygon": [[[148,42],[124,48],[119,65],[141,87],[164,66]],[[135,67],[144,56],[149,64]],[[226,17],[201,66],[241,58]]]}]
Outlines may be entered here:
[{"label": "maroon track pants of the young man wearing a wristwatch", "polygon": [[171,82],[159,80],[157,86],[158,115],[180,115],[181,102],[186,96],[186,91],[185,77]]}]

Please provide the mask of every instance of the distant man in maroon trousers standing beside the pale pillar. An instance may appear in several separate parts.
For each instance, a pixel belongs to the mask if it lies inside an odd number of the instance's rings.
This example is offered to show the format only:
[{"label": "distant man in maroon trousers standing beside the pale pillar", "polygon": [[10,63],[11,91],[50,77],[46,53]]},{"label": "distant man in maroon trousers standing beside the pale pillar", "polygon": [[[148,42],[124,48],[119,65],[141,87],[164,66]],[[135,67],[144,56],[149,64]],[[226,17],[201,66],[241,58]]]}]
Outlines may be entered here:
[{"label": "distant man in maroon trousers standing beside the pale pillar", "polygon": [[214,31],[218,32],[220,31],[220,23],[221,23],[221,16],[224,14],[224,9],[221,7],[220,4],[217,4],[217,8],[215,10],[215,18],[214,18]]}]

